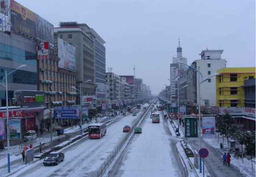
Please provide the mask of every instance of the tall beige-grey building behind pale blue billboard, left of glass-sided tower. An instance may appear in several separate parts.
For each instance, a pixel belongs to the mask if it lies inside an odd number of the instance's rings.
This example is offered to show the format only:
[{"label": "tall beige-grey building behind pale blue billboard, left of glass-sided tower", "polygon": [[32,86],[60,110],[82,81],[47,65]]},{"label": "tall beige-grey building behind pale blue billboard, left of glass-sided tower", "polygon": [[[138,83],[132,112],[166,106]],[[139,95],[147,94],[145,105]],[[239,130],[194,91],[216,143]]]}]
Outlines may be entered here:
[{"label": "tall beige-grey building behind pale blue billboard, left of glass-sided tower", "polygon": [[[96,87],[96,61],[95,61],[95,39],[91,28],[87,24],[77,22],[60,22],[59,28],[54,28],[54,37],[63,39],[70,45],[76,47],[76,87],[80,83],[88,82],[82,86],[83,95],[95,95]],[[79,96],[80,94],[78,94]],[[80,100],[80,98],[77,98]]]}]

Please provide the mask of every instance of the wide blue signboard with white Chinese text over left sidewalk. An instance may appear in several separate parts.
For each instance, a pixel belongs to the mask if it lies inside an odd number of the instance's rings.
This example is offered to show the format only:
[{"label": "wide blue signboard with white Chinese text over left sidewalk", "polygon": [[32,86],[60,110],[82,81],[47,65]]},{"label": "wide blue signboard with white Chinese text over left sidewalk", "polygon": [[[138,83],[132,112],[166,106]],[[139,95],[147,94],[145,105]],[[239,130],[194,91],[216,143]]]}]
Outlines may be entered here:
[{"label": "wide blue signboard with white Chinese text over left sidewalk", "polygon": [[54,116],[56,119],[76,119],[76,106],[56,106]]}]

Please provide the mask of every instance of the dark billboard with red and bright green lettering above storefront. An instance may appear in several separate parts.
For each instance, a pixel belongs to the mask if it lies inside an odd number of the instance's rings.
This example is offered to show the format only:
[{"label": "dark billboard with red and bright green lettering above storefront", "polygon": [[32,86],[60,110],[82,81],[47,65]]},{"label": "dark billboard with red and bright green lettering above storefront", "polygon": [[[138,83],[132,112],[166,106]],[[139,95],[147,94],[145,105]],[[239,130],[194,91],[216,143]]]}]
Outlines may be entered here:
[{"label": "dark billboard with red and bright green lettering above storefront", "polygon": [[22,108],[45,107],[44,91],[14,90],[16,106]]}]

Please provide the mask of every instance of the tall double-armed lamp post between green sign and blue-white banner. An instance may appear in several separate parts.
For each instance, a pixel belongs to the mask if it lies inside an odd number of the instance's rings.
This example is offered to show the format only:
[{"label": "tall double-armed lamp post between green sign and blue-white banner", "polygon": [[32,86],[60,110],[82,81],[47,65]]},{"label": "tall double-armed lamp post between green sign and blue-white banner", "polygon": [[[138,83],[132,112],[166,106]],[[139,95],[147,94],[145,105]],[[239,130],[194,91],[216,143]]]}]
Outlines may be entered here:
[{"label": "tall double-armed lamp post between green sign and blue-white banner", "polygon": [[[214,76],[217,76],[219,75],[219,73],[214,73],[212,75],[210,75],[210,77],[208,77],[207,79],[203,80],[203,75],[202,73],[200,73],[200,67],[198,67],[198,70],[196,70],[194,67],[191,67],[189,65],[187,65],[186,63],[182,62],[182,61],[177,61],[177,63],[180,63],[180,64],[183,64],[183,65],[186,65],[188,66],[188,68],[190,69],[193,69],[194,71],[198,72],[201,77],[202,77],[202,82],[200,83],[200,76],[198,76],[197,78],[197,82],[196,82],[196,86],[198,88],[198,116],[199,116],[199,121],[198,121],[198,124],[199,124],[199,149],[202,148],[202,142],[201,142],[201,121],[202,121],[202,116],[201,116],[201,107],[200,107],[200,84],[202,84],[203,82],[207,81],[208,79],[214,77]],[[202,173],[202,158],[200,157],[200,173]]]}]

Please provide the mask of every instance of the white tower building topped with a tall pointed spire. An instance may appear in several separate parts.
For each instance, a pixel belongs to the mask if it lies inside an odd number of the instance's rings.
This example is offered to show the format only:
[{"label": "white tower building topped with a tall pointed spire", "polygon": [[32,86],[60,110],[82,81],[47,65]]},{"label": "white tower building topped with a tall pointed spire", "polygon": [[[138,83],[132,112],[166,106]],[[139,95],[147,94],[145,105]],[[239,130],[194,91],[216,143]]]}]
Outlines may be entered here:
[{"label": "white tower building topped with a tall pointed spire", "polygon": [[[170,65],[170,79],[173,81],[178,81],[179,84],[187,81],[187,65],[177,63],[177,61],[182,61],[184,63],[188,63],[188,59],[182,57],[182,47],[180,46],[180,38],[179,38],[179,45],[177,47],[177,57],[172,57],[172,63]],[[171,90],[177,88],[177,84],[170,81]],[[173,97],[176,97],[175,92],[172,93]]]}]

